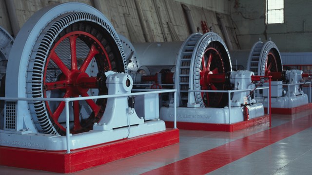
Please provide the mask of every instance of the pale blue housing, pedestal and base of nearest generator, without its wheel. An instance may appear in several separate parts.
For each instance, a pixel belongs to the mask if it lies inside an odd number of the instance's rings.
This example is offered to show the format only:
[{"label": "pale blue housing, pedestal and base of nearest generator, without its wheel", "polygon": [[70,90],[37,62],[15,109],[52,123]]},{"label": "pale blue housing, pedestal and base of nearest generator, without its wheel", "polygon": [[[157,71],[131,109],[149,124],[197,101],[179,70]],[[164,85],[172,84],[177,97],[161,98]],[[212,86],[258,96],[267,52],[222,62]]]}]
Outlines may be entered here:
[{"label": "pale blue housing, pedestal and base of nearest generator, without its wheel", "polygon": [[[63,18],[66,18],[66,20],[63,20]],[[59,23],[59,20],[62,22]],[[8,59],[6,70],[7,81],[5,83],[6,91],[4,98],[11,98],[14,100],[5,100],[4,122],[0,120],[0,146],[48,151],[66,150],[66,136],[61,136],[53,123],[46,125],[51,128],[50,130],[45,130],[46,126],[43,126],[43,124],[51,121],[39,121],[40,118],[35,116],[37,115],[36,112],[38,111],[36,110],[38,108],[34,108],[34,102],[38,99],[40,103],[43,103],[43,101],[40,100],[43,96],[33,97],[32,95],[34,89],[32,87],[34,82],[33,73],[35,72],[34,67],[38,65],[38,48],[40,48],[42,42],[44,42],[41,41],[41,39],[47,37],[47,35],[51,35],[50,33],[47,34],[47,31],[55,29],[60,33],[62,32],[61,30],[65,29],[67,26],[71,26],[79,21],[91,21],[97,27],[101,27],[101,31],[107,31],[107,36],[111,37],[110,42],[113,43],[112,47],[115,47],[114,52],[120,54],[120,61],[123,63],[120,65],[120,70],[124,70],[125,73],[106,72],[108,94],[131,93],[133,80],[131,76],[126,74],[127,66],[125,65],[126,59],[123,47],[112,24],[101,12],[87,4],[78,2],[54,4],[43,8],[36,12],[36,14],[24,24],[16,37],[18,42],[15,42],[12,46],[12,52],[10,53],[10,59]],[[53,28],[53,25],[56,24],[62,24],[63,26]],[[57,38],[59,33],[53,33],[53,37]],[[88,30],[84,31],[84,33],[88,33]],[[49,39],[49,43],[50,42],[53,43],[53,38]],[[42,47],[45,48],[45,52],[49,52],[52,46],[53,44]],[[71,50],[69,50],[69,53],[70,52]],[[47,58],[47,54],[40,56],[42,56],[42,59],[38,63],[42,66],[47,63],[47,61],[44,60]],[[94,59],[94,57],[92,59]],[[115,59],[117,58],[115,57]],[[92,64],[89,64],[88,67],[91,66]],[[88,68],[86,69],[88,70]],[[44,71],[44,69],[40,69],[40,71],[37,72],[43,76]],[[93,74],[90,75],[90,77],[96,77]],[[41,88],[39,93],[42,93],[42,79],[38,82],[38,86]],[[97,88],[93,89],[97,90]],[[50,96],[47,95],[47,98],[49,97]],[[18,101],[15,100],[16,98],[36,98],[36,100]],[[149,100],[154,100],[153,103],[158,103],[158,98]],[[71,102],[69,105],[70,107],[73,106]],[[158,115],[154,115],[153,117],[142,116],[143,118],[139,118],[135,109],[131,108],[132,106],[128,106],[128,97],[110,98],[106,105],[104,114],[99,116],[101,120],[98,123],[94,123],[92,130],[71,135],[69,143],[71,149],[93,146],[165,130],[165,124],[158,119]],[[42,111],[47,111],[47,108],[41,108]],[[82,108],[83,107],[81,107],[81,109]],[[148,108],[145,110],[147,114],[150,112]],[[63,113],[65,113],[65,110],[62,111],[62,114]],[[69,111],[69,113],[69,118],[72,119],[75,114],[71,111]],[[149,121],[145,122],[144,117],[149,118]]]}]

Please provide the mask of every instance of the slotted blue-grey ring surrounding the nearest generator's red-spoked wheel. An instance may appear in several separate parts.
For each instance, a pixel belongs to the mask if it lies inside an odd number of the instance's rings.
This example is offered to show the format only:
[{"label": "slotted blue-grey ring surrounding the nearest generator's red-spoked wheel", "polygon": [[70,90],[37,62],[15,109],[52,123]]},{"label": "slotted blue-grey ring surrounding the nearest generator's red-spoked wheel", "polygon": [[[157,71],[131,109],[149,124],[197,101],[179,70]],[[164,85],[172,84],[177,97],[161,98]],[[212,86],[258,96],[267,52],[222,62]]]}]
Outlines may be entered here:
[{"label": "slotted blue-grey ring surrounding the nearest generator's red-spoked wheel", "polygon": [[[109,59],[108,61],[110,61],[111,69],[118,72],[127,72],[126,65],[124,65],[125,55],[122,49],[121,42],[118,39],[118,35],[112,30],[109,24],[107,24],[101,18],[98,18],[97,16],[86,12],[65,13],[63,15],[60,15],[58,18],[53,19],[46,26],[46,28],[42,30],[36,41],[37,44],[33,48],[33,54],[35,55],[31,56],[32,59],[30,61],[30,66],[28,69],[31,70],[28,71],[28,76],[31,77],[31,81],[27,82],[27,87],[31,87],[31,97],[45,97],[43,93],[45,91],[45,88],[43,87],[43,82],[49,82],[46,79],[47,73],[54,72],[54,76],[56,78],[61,73],[60,70],[55,70],[56,64],[54,62],[46,62],[47,57],[50,54],[50,49],[54,48],[55,43],[60,38],[62,38],[62,36],[69,34],[73,31],[83,31],[96,37],[108,53],[108,57],[105,59]],[[105,36],[109,36],[110,41],[108,41]],[[109,44],[109,42],[111,44]],[[95,59],[97,60],[98,58],[95,57]],[[78,61],[79,60],[77,60],[77,62]],[[107,67],[104,62],[97,61],[98,69]],[[68,64],[64,61],[64,64],[69,70],[71,69],[70,63]],[[46,68],[47,70],[45,70]],[[99,95],[102,94],[104,93],[99,92]],[[42,131],[43,133],[59,133],[60,135],[64,135],[64,127],[61,127],[58,121],[54,121],[53,117],[51,117],[52,112],[49,103],[43,101],[29,102],[29,106],[31,106],[31,108],[33,107],[33,109],[31,109],[30,111],[34,111],[34,113],[32,113],[34,123],[36,124],[38,130]],[[105,104],[106,102],[103,102],[104,109]],[[104,109],[101,109],[98,115],[101,115],[104,112]],[[83,122],[81,121],[81,125],[85,128],[83,128],[80,132],[92,129],[93,123],[97,122],[100,118],[101,117],[95,116],[94,114],[90,114],[87,120],[84,120]]]}]

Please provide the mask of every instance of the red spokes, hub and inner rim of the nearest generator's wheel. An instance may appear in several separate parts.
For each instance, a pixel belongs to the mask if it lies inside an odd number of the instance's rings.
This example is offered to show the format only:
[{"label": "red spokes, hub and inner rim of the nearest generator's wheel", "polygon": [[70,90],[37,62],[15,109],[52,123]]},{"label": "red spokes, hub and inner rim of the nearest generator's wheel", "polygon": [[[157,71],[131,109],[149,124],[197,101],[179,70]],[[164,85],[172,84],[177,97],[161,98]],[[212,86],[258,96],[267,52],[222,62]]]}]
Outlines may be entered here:
[{"label": "red spokes, hub and inner rim of the nearest generator's wheel", "polygon": [[[78,43],[79,39],[79,43]],[[81,42],[82,41],[82,42]],[[62,49],[62,42],[69,43],[69,50],[66,50],[65,55],[70,55],[70,57],[58,55],[58,49]],[[78,57],[78,44],[84,46],[89,50],[86,57]],[[60,47],[60,48],[59,48]],[[64,51],[62,51],[64,53]],[[69,54],[70,53],[70,54]],[[50,91],[51,94],[57,92],[58,94],[62,92],[62,98],[69,97],[88,97],[88,90],[90,88],[98,88],[97,77],[90,76],[86,70],[90,67],[91,61],[95,58],[94,62],[97,62],[98,70],[111,70],[111,63],[108,59],[108,53],[106,52],[104,46],[101,42],[92,34],[83,32],[83,31],[74,31],[69,32],[66,35],[63,35],[59,40],[54,44],[52,50],[50,51],[47,57],[47,64],[44,68],[44,97],[47,97],[47,92]],[[69,61],[67,61],[69,60]],[[101,60],[101,64],[98,64],[98,60]],[[57,81],[47,82],[47,70],[51,70],[51,67],[57,67],[60,70]],[[54,68],[56,69],[56,68]],[[57,91],[56,91],[57,90]],[[58,91],[59,90],[59,91]],[[99,111],[105,107],[103,104],[96,104],[93,100],[85,100],[92,110],[92,116],[94,118],[100,118]],[[51,107],[48,102],[45,103],[50,118],[53,119],[54,123],[59,126],[59,128],[65,131],[65,128],[60,124],[59,118],[64,110],[65,103],[59,102],[57,107]],[[73,108],[73,119],[74,126],[72,132],[82,132],[86,128],[81,126],[81,117],[80,105],[78,101],[74,101],[72,104]]]}]

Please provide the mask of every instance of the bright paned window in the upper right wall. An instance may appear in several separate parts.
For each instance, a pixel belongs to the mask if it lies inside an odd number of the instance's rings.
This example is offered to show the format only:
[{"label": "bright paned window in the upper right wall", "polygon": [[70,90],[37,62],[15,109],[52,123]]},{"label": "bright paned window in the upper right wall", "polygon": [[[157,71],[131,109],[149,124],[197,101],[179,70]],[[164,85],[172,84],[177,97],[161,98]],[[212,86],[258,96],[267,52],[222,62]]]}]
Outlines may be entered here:
[{"label": "bright paned window in the upper right wall", "polygon": [[266,24],[284,23],[284,0],[266,0]]}]

